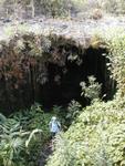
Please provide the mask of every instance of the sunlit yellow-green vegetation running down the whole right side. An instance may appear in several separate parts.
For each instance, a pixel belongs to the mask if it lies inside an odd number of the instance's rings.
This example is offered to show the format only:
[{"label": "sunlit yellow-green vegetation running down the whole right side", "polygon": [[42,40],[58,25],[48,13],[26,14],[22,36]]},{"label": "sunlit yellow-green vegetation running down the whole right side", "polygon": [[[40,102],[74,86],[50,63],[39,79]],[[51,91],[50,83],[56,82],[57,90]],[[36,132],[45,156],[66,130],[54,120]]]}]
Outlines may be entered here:
[{"label": "sunlit yellow-green vegetation running down the whole right side", "polygon": [[[94,100],[91,106],[83,108],[69,131],[56,138],[55,152],[48,166],[53,166],[53,163],[54,166],[125,164],[125,33],[112,29],[98,37],[93,43],[100,45],[103,42],[108,49],[107,66],[111,77],[117,81],[117,93],[113,101]],[[81,85],[84,93],[87,92],[88,87]]]}]

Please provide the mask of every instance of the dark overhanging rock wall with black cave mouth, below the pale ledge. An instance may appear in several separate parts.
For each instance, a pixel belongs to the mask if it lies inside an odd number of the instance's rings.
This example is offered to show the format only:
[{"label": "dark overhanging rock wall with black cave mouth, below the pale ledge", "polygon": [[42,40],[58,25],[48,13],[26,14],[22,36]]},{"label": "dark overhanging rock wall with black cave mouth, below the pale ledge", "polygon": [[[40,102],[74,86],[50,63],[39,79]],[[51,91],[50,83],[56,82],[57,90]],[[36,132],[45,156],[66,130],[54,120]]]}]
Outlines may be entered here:
[{"label": "dark overhanging rock wall with black cave mouth, below the pale ledge", "polygon": [[[84,41],[84,43],[83,43]],[[94,75],[103,84],[102,95],[112,86],[106,68],[106,48],[101,40],[34,33],[18,34],[1,42],[0,105],[6,110],[30,106],[65,105],[81,98],[80,82]],[[4,97],[3,97],[4,96]],[[18,98],[18,100],[17,100]]]}]

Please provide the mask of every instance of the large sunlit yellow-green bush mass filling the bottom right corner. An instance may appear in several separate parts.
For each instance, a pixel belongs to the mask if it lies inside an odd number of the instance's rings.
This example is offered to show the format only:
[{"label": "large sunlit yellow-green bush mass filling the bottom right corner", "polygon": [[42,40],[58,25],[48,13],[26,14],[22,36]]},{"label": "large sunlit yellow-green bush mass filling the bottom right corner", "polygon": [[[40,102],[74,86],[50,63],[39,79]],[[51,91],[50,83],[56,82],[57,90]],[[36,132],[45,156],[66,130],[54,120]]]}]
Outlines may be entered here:
[{"label": "large sunlit yellow-green bush mass filling the bottom right corner", "polygon": [[48,166],[119,166],[125,160],[125,98],[94,102],[56,142]]}]

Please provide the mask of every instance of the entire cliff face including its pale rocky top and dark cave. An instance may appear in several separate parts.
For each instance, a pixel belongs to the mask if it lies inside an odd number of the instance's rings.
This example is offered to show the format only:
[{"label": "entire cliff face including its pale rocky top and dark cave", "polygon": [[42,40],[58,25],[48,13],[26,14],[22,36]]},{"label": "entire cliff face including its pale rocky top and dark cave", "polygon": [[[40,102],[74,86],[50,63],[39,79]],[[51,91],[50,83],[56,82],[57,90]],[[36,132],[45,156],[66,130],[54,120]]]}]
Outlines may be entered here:
[{"label": "entire cliff face including its pale rocky top and dark cave", "polygon": [[[124,20],[114,19],[112,24],[123,28]],[[108,20],[34,20],[27,25],[24,22],[1,25],[1,108],[21,108],[33,102],[46,107],[65,105],[71,100],[84,105],[80,82],[87,82],[88,75],[103,84],[102,95],[106,93],[110,98],[113,93],[110,89],[114,91],[115,84],[106,66],[108,48],[96,35],[96,25],[101,31],[112,28]],[[7,35],[8,27],[11,35]]]}]

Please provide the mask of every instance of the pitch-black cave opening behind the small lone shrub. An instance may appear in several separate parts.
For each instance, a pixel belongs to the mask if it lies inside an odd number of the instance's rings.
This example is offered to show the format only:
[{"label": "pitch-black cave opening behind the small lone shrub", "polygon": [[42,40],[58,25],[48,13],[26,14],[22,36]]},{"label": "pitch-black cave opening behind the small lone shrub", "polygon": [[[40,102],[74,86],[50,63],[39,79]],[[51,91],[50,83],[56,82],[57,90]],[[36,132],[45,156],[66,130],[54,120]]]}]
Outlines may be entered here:
[{"label": "pitch-black cave opening behind the small lone shrub", "polygon": [[[76,49],[75,49],[76,51]],[[77,50],[79,52],[79,50]],[[113,96],[112,82],[107,71],[107,59],[104,56],[104,49],[87,49],[80,53],[81,62],[76,60],[65,60],[64,66],[54,63],[48,64],[49,81],[40,87],[41,103],[44,107],[53,105],[67,105],[72,100],[86,105],[86,100],[81,97],[82,81],[87,82],[87,76],[94,75],[98,83],[102,83],[102,96],[106,94],[106,100]]]}]

